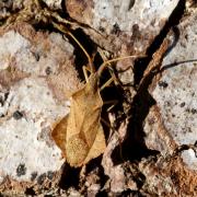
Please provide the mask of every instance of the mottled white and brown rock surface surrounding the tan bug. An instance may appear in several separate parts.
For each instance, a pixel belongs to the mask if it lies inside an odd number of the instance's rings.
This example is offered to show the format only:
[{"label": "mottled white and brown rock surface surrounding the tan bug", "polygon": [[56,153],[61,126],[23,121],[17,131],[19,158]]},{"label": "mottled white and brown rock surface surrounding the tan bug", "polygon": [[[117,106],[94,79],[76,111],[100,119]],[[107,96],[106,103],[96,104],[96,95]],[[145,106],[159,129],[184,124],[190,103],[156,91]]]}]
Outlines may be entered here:
[{"label": "mottled white and brown rock surface surrounding the tan bug", "polygon": [[[196,196],[196,8],[193,0],[1,1],[1,195]],[[69,114],[88,59],[53,22],[95,55],[96,67],[147,55],[114,65],[116,83],[102,91],[104,102],[118,101],[103,107],[107,148],[82,169],[65,162],[51,131]],[[109,77],[106,69],[101,83]]]}]

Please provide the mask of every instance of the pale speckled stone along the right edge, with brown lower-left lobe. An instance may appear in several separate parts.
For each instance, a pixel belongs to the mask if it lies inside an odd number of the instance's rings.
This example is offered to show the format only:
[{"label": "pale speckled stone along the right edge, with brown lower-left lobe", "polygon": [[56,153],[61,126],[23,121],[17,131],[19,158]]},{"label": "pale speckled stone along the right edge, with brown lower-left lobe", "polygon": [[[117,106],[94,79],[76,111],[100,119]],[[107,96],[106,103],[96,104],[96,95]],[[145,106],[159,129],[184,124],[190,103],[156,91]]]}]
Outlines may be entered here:
[{"label": "pale speckled stone along the right edge, with brown lower-left lobe", "polygon": [[[197,141],[196,19],[194,12],[178,25],[178,40],[164,58],[161,77],[151,91],[157,106],[146,118],[146,143],[162,154]],[[197,158],[192,150],[184,151],[182,157],[189,169],[197,170]]]}]

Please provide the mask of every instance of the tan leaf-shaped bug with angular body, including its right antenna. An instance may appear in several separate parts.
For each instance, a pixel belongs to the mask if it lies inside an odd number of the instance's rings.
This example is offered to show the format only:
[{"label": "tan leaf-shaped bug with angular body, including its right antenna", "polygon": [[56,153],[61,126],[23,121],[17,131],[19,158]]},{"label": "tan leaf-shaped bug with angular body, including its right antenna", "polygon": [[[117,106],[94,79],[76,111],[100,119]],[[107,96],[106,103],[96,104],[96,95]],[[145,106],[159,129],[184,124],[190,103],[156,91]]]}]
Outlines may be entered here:
[{"label": "tan leaf-shaped bug with angular body, including its right antenna", "polygon": [[70,114],[51,134],[71,166],[82,166],[104,152],[106,144],[101,124],[103,101],[99,86],[100,77],[107,63],[131,57],[136,56],[105,61],[97,71],[91,63],[90,77],[84,74],[84,86],[72,94]]}]

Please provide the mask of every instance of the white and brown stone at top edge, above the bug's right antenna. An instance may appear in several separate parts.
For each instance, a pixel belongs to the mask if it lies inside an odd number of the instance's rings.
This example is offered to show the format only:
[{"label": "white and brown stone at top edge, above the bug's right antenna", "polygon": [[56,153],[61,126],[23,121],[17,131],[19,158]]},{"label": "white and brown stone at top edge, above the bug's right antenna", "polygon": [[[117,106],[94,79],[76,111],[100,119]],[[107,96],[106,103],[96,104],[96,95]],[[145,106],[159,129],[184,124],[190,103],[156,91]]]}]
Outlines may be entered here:
[{"label": "white and brown stone at top edge, above the bug's right antenna", "polygon": [[[160,33],[178,0],[67,0],[71,18],[89,24],[100,34],[93,39],[119,54],[144,51]],[[101,35],[102,34],[102,35]]]}]

